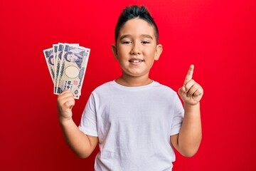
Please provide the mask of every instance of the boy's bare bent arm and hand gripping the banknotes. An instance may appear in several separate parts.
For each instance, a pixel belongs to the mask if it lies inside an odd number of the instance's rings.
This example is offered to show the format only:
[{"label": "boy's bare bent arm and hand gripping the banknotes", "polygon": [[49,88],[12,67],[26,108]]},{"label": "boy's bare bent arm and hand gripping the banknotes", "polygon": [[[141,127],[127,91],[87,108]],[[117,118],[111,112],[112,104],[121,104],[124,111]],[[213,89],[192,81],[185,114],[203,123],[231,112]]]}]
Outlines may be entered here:
[{"label": "boy's bare bent arm and hand gripping the banknotes", "polygon": [[58,118],[65,141],[78,157],[88,157],[97,146],[97,137],[85,135],[78,129],[72,119],[72,108],[75,105],[73,93],[65,90],[58,95]]}]

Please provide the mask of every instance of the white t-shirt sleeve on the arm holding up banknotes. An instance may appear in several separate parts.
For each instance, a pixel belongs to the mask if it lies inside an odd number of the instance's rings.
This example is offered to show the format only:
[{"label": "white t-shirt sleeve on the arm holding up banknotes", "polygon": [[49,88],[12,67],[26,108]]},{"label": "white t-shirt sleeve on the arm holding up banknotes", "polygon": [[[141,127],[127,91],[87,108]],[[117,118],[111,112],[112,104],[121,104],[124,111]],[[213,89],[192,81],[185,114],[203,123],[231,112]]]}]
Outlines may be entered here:
[{"label": "white t-shirt sleeve on the arm holding up banknotes", "polygon": [[95,98],[93,94],[90,95],[90,98],[85,105],[85,110],[82,113],[82,118],[78,128],[86,135],[97,137]]}]

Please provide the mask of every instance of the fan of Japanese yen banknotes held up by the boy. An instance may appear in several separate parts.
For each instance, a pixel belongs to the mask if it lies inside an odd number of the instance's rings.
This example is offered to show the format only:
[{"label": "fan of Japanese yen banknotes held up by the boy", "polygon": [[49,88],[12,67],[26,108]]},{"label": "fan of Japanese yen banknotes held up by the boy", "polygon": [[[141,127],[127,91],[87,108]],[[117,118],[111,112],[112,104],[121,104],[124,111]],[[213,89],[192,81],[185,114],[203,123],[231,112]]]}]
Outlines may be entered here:
[{"label": "fan of Japanese yen banknotes held up by the boy", "polygon": [[90,55],[90,48],[78,43],[53,44],[53,48],[43,50],[46,63],[53,80],[53,93],[71,90],[75,99],[81,95],[82,82]]}]

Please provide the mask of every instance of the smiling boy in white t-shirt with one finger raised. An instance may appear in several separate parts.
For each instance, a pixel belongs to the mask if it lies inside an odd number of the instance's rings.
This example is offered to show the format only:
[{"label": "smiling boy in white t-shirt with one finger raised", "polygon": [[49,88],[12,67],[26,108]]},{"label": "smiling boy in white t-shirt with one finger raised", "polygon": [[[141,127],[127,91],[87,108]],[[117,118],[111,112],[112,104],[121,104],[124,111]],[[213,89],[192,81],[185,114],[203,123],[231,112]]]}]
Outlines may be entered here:
[{"label": "smiling boy in white t-shirt with one finger raised", "polygon": [[[128,6],[119,16],[112,45],[122,76],[90,95],[79,128],[72,120],[73,94],[58,96],[63,134],[79,157],[88,157],[99,144],[95,170],[171,170],[174,148],[193,156],[201,143],[199,101],[203,88],[193,81],[190,66],[178,90],[149,78],[161,55],[158,29],[144,6]],[[182,125],[181,125],[182,123]]]}]

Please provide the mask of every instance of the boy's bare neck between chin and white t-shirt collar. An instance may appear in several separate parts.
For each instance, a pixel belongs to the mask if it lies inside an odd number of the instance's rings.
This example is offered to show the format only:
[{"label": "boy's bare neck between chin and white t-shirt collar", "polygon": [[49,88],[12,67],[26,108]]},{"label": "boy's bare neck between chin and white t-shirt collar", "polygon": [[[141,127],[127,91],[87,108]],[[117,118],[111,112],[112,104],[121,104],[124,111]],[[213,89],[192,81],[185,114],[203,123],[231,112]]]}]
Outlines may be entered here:
[{"label": "boy's bare neck between chin and white t-shirt collar", "polygon": [[125,76],[124,74],[115,80],[122,86],[127,87],[137,87],[137,86],[146,86],[153,81],[149,78],[149,76]]}]

